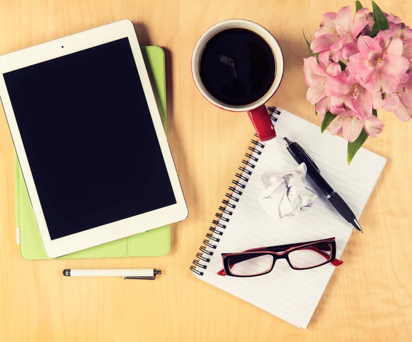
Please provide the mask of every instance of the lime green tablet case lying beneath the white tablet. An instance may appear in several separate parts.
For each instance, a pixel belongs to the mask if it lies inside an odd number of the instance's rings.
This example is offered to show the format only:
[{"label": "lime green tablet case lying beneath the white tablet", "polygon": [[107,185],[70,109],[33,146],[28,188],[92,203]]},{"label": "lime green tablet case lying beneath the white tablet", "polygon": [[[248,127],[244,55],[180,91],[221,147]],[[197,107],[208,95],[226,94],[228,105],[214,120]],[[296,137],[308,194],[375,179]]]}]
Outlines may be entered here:
[{"label": "lime green tablet case lying beneath the white tablet", "polygon": [[[141,52],[146,62],[150,82],[155,93],[157,105],[159,106],[163,125],[167,132],[165,54],[163,49],[157,46],[142,47]],[[136,157],[139,158],[139,155]],[[50,259],[45,252],[43,241],[41,240],[19,161],[17,157],[14,160],[17,242],[20,243],[21,255],[27,260]],[[165,226],[65,255],[58,259],[159,256],[167,254],[169,249],[170,226]]]}]

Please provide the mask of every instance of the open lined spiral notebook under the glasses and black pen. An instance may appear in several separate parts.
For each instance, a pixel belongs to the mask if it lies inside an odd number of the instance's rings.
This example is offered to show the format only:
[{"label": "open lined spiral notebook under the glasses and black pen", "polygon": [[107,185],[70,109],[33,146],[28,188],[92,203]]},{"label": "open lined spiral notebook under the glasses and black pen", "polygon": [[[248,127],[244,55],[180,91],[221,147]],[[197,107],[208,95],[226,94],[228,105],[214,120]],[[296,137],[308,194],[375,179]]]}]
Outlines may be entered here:
[{"label": "open lined spiral notebook under the glasses and black pen", "polygon": [[[203,241],[191,269],[201,280],[217,286],[249,303],[306,328],[321,299],[334,266],[295,271],[286,260],[277,260],[271,273],[258,277],[222,277],[221,253],[240,252],[323,238],[336,238],[336,258],[352,234],[352,227],[336,212],[316,185],[308,187],[319,197],[312,209],[301,216],[272,221],[264,213],[258,197],[264,190],[261,176],[267,170],[280,172],[297,164],[288,154],[282,137],[298,141],[317,163],[323,177],[334,187],[359,218],[385,166],[386,159],[361,148],[350,166],[346,163],[347,141],[325,132],[282,109],[271,109],[277,137],[262,143],[251,141],[247,159],[242,161],[233,186],[219,207],[213,227]],[[365,233],[371,227],[363,227]],[[357,232],[358,233],[358,232]],[[345,258],[343,258],[345,262]],[[340,266],[345,267],[345,263]]]}]

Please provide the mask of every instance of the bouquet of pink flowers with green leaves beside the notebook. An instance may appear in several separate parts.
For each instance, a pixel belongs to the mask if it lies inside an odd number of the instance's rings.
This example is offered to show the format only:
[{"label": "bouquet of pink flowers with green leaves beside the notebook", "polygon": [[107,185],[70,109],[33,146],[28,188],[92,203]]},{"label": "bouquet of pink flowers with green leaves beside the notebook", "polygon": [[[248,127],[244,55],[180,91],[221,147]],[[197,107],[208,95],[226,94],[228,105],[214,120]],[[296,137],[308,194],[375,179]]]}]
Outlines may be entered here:
[{"label": "bouquet of pink flowers with green leaves beside the notebook", "polygon": [[306,98],[323,115],[322,133],[329,127],[347,139],[347,163],[385,126],[377,109],[404,122],[412,117],[412,30],[374,1],[372,7],[356,1],[354,17],[350,6],[325,13],[314,41],[306,40]]}]

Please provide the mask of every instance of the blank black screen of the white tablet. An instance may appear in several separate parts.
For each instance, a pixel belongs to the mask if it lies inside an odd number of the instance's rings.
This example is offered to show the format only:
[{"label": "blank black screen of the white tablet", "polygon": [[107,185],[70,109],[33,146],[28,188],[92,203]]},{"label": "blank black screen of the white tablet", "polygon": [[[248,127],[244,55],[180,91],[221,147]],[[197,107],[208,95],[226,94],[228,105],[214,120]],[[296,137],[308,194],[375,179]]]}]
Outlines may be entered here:
[{"label": "blank black screen of the white tablet", "polygon": [[4,78],[52,240],[176,203],[128,38]]}]

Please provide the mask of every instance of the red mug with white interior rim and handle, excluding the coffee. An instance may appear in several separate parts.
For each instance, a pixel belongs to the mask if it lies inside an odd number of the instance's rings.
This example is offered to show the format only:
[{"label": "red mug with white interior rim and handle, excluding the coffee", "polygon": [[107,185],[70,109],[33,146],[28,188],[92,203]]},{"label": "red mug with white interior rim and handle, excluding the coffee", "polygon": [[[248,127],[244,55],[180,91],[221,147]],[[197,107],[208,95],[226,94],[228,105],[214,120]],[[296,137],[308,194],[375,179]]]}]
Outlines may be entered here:
[{"label": "red mug with white interior rim and handle, excluding the coffee", "polygon": [[[264,39],[264,41],[266,41],[268,46],[271,47],[273,56],[275,56],[276,73],[271,88],[262,96],[262,98],[256,100],[251,104],[246,104],[244,106],[232,106],[230,104],[225,104],[224,102],[221,102],[214,98],[203,85],[199,70],[200,59],[202,56],[203,49],[205,48],[207,42],[219,32],[232,28],[243,28],[255,32],[255,34],[258,34]],[[264,104],[273,96],[273,94],[279,88],[280,82],[282,81],[283,73],[284,58],[282,50],[280,49],[279,43],[277,43],[275,37],[271,34],[271,32],[268,32],[268,30],[266,30],[259,24],[244,19],[231,19],[227,21],[222,21],[210,27],[209,30],[207,30],[196,43],[192,55],[193,79],[196,84],[196,87],[199,89],[202,95],[209,102],[211,102],[215,106],[218,106],[221,109],[234,112],[246,111],[249,114],[252,124],[253,126],[255,126],[255,130],[258,133],[261,141],[267,141],[276,137],[275,128],[273,128],[273,124],[271,122],[270,117],[268,116],[268,112],[266,111],[266,106],[264,106]]]}]

